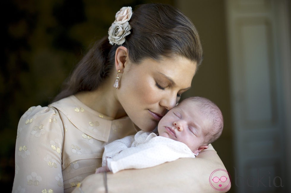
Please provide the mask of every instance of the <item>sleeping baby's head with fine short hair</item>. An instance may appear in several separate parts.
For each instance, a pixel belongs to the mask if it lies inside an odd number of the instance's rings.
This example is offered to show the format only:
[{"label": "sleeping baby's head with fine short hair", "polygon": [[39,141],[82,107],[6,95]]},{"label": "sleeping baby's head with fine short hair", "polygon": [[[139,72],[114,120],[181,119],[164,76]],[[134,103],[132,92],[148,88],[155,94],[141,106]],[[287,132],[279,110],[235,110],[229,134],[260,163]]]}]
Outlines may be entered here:
[{"label": "sleeping baby's head with fine short hair", "polygon": [[186,144],[194,154],[208,148],[222,133],[220,109],[209,99],[190,97],[171,109],[159,122],[159,136]]}]

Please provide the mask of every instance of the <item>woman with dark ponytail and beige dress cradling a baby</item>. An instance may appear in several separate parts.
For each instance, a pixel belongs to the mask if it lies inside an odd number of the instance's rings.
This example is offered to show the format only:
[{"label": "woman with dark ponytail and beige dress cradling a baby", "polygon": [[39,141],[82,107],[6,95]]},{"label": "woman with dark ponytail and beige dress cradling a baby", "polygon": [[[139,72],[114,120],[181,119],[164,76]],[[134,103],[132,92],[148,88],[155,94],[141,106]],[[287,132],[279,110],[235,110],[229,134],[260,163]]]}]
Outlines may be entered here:
[{"label": "woman with dark ponytail and beige dress cradling a baby", "polygon": [[106,183],[103,174],[90,175],[101,166],[107,142],[156,127],[190,88],[202,61],[194,25],[168,5],[141,5],[134,13],[124,7],[108,33],[55,102],[31,107],[20,118],[12,192],[72,192],[77,184],[74,192],[107,186],[110,192],[214,191],[208,178],[224,168],[215,151],[107,174]]}]

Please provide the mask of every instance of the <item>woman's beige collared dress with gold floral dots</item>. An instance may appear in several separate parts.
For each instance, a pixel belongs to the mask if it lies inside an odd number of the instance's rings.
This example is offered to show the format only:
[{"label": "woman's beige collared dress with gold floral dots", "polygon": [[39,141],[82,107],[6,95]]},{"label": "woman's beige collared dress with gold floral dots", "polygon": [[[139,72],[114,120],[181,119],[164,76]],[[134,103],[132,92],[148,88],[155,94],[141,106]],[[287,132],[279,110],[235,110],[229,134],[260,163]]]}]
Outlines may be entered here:
[{"label": "woman's beige collared dress with gold floral dots", "polygon": [[128,117],[114,120],[75,96],[31,107],[18,124],[12,192],[72,192],[101,167],[105,144],[135,133]]}]

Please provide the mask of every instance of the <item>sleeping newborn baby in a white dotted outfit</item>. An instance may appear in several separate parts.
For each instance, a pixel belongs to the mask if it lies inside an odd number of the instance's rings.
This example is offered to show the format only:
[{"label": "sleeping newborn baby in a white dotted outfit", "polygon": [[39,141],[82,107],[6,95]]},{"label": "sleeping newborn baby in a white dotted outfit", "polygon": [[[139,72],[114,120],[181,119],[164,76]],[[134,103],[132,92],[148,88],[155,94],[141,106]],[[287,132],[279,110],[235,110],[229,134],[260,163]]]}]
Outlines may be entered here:
[{"label": "sleeping newborn baby in a white dotted outfit", "polygon": [[223,117],[209,99],[190,97],[159,121],[158,136],[139,131],[105,145],[102,166],[96,173],[147,168],[181,157],[195,157],[222,133]]}]

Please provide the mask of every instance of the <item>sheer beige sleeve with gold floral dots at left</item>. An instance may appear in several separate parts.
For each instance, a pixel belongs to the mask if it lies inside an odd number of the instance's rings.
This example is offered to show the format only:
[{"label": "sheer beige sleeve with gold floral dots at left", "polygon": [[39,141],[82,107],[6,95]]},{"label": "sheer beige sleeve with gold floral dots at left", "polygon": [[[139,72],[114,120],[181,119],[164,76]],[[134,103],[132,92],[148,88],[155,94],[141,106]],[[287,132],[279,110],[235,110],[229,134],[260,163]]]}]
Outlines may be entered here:
[{"label": "sheer beige sleeve with gold floral dots at left", "polygon": [[20,118],[12,192],[64,192],[64,128],[57,110],[31,107]]}]

